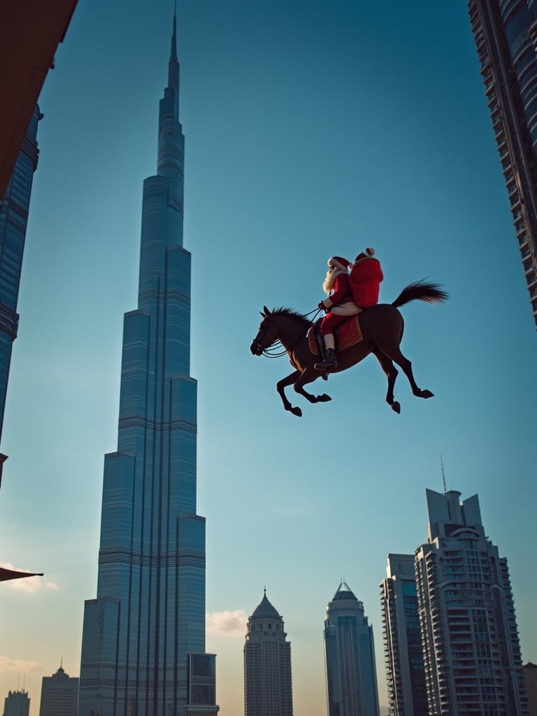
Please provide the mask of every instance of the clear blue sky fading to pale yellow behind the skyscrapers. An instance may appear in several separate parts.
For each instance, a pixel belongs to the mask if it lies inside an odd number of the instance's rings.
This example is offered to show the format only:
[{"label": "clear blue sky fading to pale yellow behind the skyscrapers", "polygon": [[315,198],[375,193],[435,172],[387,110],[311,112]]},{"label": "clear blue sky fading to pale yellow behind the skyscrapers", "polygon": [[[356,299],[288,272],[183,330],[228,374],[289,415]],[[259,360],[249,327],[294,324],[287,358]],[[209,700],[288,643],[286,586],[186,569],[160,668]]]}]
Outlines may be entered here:
[{"label": "clear blue sky fading to pale yellow behind the skyscrapers", "polygon": [[[79,1],[39,105],[39,168],[9,381],[0,697],[79,674],[96,594],[103,455],[117,440],[122,316],[135,309],[142,180],[155,173],[171,1]],[[388,552],[427,537],[425,489],[478,493],[508,558],[523,660],[537,662],[536,332],[463,0],[182,0],[184,245],[193,254],[198,513],[207,649],[222,716],[243,710],[245,615],[267,596],[291,641],[295,716],[324,716],[322,627],[342,577],[373,625]],[[285,358],[253,357],[263,304],[322,298],[326,259],[373,246],[402,309],[401,415],[369,357],[332,402],[284,412]],[[24,583],[24,584],[23,584]]]}]

